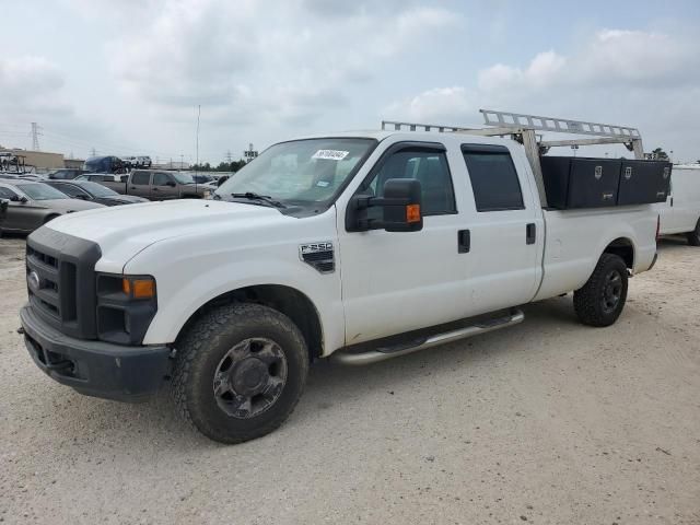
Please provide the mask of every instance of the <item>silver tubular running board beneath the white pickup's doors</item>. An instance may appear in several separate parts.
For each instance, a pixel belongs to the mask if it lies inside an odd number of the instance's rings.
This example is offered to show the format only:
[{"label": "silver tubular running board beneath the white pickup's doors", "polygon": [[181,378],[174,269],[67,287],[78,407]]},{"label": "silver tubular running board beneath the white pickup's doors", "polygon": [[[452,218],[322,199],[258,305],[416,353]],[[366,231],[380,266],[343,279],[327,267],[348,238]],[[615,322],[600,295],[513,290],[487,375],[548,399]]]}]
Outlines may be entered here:
[{"label": "silver tubular running board beneath the white pickup's doors", "polygon": [[506,326],[517,325],[524,319],[525,314],[523,314],[523,311],[513,308],[506,316],[481,320],[471,326],[445,331],[443,334],[435,334],[423,339],[411,341],[408,345],[404,343],[392,347],[378,347],[374,350],[364,352],[338,350],[337,352],[334,352],[331,359],[338,363],[350,365],[377,363],[380,361],[397,358],[399,355],[406,355],[407,353],[413,353],[419,350],[436,347],[439,345],[446,345],[459,339],[466,339],[467,337],[487,334],[500,328],[505,328]]}]

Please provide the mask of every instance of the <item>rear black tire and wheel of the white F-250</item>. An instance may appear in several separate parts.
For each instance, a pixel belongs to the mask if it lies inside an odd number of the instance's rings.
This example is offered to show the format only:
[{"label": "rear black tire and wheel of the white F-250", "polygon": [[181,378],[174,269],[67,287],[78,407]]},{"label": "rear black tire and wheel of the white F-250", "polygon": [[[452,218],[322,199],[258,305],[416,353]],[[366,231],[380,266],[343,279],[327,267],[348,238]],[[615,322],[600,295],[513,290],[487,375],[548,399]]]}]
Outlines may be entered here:
[{"label": "rear black tire and wheel of the white F-250", "polygon": [[603,254],[583,288],[573,292],[579,320],[590,326],[610,326],[627,300],[627,265],[621,257]]}]

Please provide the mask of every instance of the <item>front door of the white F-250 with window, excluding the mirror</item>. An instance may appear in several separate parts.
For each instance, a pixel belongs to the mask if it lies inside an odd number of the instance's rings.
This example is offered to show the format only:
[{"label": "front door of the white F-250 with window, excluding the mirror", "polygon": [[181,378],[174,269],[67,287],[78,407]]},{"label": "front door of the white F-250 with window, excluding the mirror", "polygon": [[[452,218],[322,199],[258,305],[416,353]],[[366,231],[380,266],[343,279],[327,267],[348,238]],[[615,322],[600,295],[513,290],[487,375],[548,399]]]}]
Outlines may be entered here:
[{"label": "front door of the white F-250 with window, excluding the mirror", "polygon": [[[385,152],[358,194],[383,196],[389,178],[421,182],[423,229],[348,232],[338,214],[346,313],[346,345],[377,339],[455,320],[465,314],[465,259],[445,148],[430,143],[397,143]],[[370,208],[370,219],[382,210]]]}]

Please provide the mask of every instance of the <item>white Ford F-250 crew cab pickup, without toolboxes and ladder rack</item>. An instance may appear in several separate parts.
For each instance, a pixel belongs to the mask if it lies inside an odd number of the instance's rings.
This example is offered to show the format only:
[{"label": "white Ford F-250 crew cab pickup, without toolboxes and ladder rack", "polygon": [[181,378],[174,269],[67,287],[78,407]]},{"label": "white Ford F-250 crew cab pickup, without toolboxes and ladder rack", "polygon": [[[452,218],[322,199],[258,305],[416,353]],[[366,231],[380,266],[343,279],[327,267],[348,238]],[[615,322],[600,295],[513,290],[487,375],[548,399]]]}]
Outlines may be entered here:
[{"label": "white Ford F-250 crew cab pickup, without toolboxes and ladder rack", "polygon": [[211,200],[34,232],[22,331],[54,380],[119,400],[170,382],[187,420],[236,443],[288,418],[317,358],[380,361],[571,291],[582,323],[615,323],[656,228],[651,205],[542,208],[513,140],[310,137],[270,147]]}]

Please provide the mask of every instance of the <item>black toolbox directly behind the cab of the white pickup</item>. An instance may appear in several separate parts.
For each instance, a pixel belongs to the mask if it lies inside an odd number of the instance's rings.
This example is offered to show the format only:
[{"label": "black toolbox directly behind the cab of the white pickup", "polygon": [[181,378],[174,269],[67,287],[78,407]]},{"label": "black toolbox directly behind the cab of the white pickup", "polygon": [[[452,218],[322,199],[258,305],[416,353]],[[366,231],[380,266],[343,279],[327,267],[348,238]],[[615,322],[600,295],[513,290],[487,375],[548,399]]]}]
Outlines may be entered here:
[{"label": "black toolbox directly behind the cab of the white pickup", "polygon": [[542,156],[542,178],[550,208],[603,208],[617,205],[622,161]]}]

